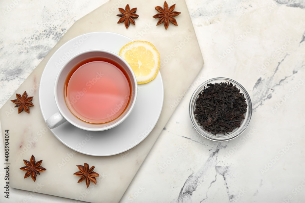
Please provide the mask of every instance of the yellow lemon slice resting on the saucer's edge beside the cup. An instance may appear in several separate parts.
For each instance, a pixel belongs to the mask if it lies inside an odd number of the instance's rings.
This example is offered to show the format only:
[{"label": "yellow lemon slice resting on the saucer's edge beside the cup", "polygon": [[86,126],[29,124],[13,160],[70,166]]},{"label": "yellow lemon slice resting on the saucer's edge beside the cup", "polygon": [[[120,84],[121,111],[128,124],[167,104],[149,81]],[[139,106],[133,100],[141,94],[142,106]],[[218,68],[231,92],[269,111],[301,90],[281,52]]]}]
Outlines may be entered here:
[{"label": "yellow lemon slice resting on the saucer's edge beside the cup", "polygon": [[160,54],[150,42],[130,42],[121,48],[119,55],[131,66],[138,84],[151,81],[159,71]]}]

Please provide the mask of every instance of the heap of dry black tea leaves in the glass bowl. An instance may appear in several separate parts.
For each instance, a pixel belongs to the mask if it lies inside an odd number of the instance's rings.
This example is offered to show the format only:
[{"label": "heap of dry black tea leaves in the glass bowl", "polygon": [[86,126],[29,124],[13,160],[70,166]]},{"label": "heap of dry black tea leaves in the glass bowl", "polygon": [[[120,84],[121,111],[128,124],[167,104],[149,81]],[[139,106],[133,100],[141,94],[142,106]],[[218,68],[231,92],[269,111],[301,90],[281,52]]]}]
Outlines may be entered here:
[{"label": "heap of dry black tea leaves in the glass bowl", "polygon": [[247,112],[245,96],[231,82],[207,84],[199,93],[195,106],[195,119],[204,130],[228,134],[239,128]]}]

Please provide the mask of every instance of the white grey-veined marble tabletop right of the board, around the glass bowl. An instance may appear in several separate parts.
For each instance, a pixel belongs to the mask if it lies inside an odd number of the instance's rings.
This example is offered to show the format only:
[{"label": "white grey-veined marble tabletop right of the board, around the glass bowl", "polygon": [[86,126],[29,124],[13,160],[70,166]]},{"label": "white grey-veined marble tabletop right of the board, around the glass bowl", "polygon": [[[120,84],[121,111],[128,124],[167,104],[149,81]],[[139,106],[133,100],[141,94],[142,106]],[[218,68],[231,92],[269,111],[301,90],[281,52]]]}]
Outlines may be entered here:
[{"label": "white grey-veined marble tabletop right of the board, around the glass bowl", "polygon": [[194,84],[240,82],[252,119],[238,138],[207,140],[190,122],[189,88],[122,203],[305,201],[304,2],[187,2],[205,58]]}]

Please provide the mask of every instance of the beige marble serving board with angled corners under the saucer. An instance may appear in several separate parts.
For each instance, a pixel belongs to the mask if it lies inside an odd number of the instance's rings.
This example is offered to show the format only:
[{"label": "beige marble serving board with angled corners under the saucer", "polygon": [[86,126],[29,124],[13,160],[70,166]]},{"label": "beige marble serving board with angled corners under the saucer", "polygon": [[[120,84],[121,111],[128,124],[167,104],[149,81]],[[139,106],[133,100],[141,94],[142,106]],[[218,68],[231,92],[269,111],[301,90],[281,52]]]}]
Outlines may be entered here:
[{"label": "beige marble serving board with angled corners under the saucer", "polygon": [[[137,7],[140,16],[135,20],[136,26],[128,29],[124,24],[117,24],[118,7]],[[7,101],[0,110],[2,135],[9,130],[9,167],[10,187],[56,195],[88,202],[119,202],[131,180],[135,176],[145,157],[155,143],[163,127],[174,112],[181,98],[203,67],[203,58],[184,0],[168,1],[176,3],[175,11],[181,12],[176,17],[178,26],[170,24],[165,30],[163,24],[156,26],[158,19],[152,18],[157,13],[155,6],[163,6],[164,1],[109,1],[79,19],[53,47],[49,54],[23,82],[16,93],[27,91],[34,96],[34,107],[30,114],[25,111],[18,114],[14,104]],[[164,84],[163,109],[155,128],[147,138],[133,149],[122,154],[96,157],[88,156],[71,150],[59,142],[48,130],[42,118],[38,102],[38,86],[43,69],[52,54],[68,40],[89,32],[109,31],[123,34],[133,40],[149,41],[160,52],[160,72]],[[15,94],[9,100],[16,99]],[[3,136],[4,138],[4,136]],[[41,166],[47,170],[41,172],[36,182],[28,177],[23,179],[23,159],[43,159]],[[76,165],[88,163],[95,166],[100,176],[97,185],[91,183],[86,189],[85,183],[77,184],[79,179],[72,175],[77,171]]]}]

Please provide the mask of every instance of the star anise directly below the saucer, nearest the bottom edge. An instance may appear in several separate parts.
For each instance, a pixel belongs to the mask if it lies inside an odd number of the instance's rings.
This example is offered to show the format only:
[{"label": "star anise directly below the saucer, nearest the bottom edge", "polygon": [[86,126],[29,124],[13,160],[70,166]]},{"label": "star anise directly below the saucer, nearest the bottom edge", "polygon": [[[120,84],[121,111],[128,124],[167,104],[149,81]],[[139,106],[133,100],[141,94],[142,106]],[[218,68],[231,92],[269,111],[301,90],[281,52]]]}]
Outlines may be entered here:
[{"label": "star anise directly below the saucer, nearest the bottom edge", "polygon": [[95,168],[94,166],[91,166],[91,168],[89,169],[88,163],[84,163],[84,166],[78,165],[77,167],[78,167],[79,171],[77,171],[76,173],[73,173],[73,175],[81,176],[81,178],[78,180],[77,183],[80,183],[81,181],[86,179],[87,188],[90,185],[90,181],[92,183],[96,184],[95,177],[99,177],[99,174],[93,172],[93,170]]}]

